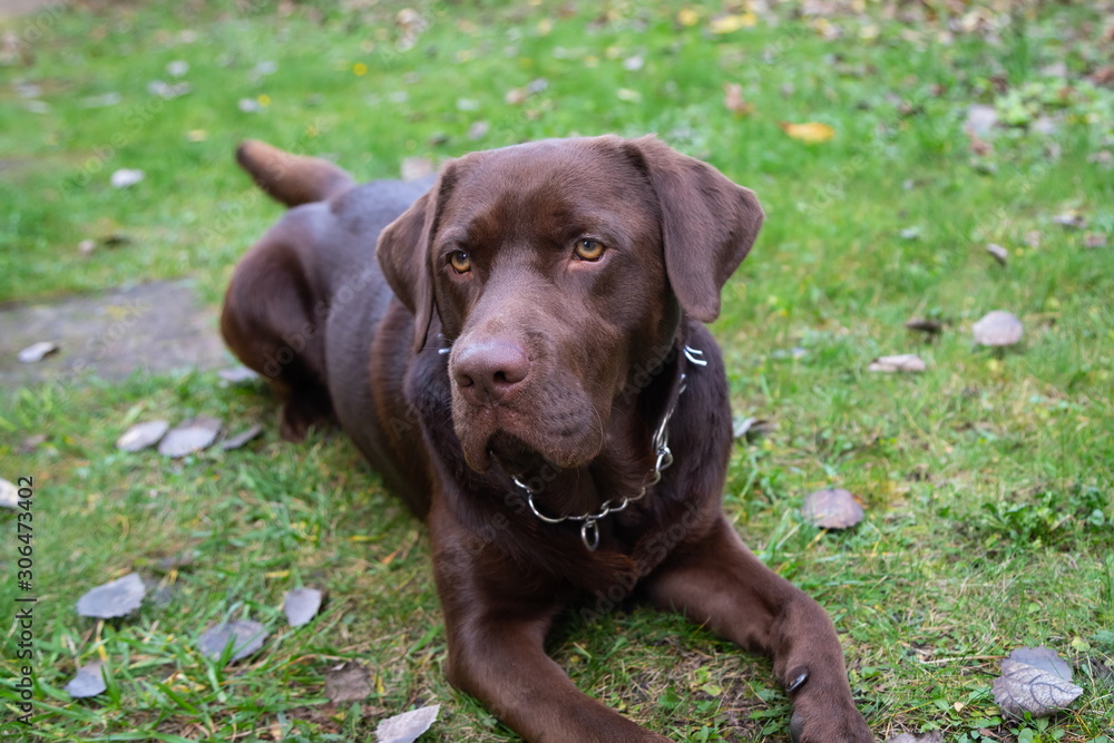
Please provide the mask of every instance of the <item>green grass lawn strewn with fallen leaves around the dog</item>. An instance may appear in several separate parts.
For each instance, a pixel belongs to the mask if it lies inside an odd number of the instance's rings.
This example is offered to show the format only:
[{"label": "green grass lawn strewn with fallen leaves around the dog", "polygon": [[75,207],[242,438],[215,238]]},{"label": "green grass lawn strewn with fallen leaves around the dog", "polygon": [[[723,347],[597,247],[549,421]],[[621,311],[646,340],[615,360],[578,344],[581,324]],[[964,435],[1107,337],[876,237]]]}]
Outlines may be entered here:
[{"label": "green grass lawn strewn with fallen leaves around the dog", "polygon": [[[994,38],[957,31],[945,43],[961,19],[944,3],[907,22],[873,3],[820,20],[779,7],[729,35],[710,32],[711,3],[690,7],[693,26],[666,2],[553,18],[539,6],[416,3],[429,25],[400,50],[400,4],[201,7],[82,4],[9,21],[17,38],[41,38],[0,67],[0,302],[186,274],[217,302],[280,213],[233,166],[245,137],[371,178],[394,177],[404,157],[656,131],[766,208],[714,330],[736,413],[778,429],[737,446],[726,508],[832,614],[878,736],[1114,739],[1114,685],[1085,664],[1114,666],[1114,248],[1084,246],[1088,235],[1114,243],[1114,172],[1101,159],[1114,91],[1085,80],[1108,52],[1108,19],[1086,3],[1018,6],[990,19]],[[824,38],[831,27],[842,38]],[[633,57],[641,69],[624,65]],[[163,101],[147,85],[169,80],[174,60],[188,62],[193,90]],[[263,61],[277,70],[253,76]],[[1055,62],[1066,81],[1051,77]],[[539,78],[544,90],[505,101]],[[724,82],[743,85],[751,115],[726,110]],[[40,86],[46,113],[29,111],[17,84]],[[117,105],[84,107],[108,92]],[[266,105],[245,113],[241,99]],[[974,154],[964,134],[973,102],[1018,125],[996,131],[993,153]],[[1040,116],[1057,119],[1054,134],[1025,126]],[[479,120],[488,131],[470,140]],[[805,145],[780,121],[837,136]],[[110,187],[123,167],[146,178]],[[1084,229],[1054,223],[1073,209]],[[125,241],[78,254],[82,239],[113,236]],[[985,253],[990,242],[1008,248],[1008,266]],[[973,349],[971,323],[996,309],[1022,317],[1024,342]],[[905,330],[915,315],[944,323],[939,340]],[[794,346],[807,353],[786,356]],[[902,352],[929,370],[866,371]],[[245,450],[176,463],[113,447],[136,420],[198,413],[268,428]],[[37,485],[32,737],[367,740],[379,718],[440,703],[429,740],[515,740],[444,681],[420,525],[342,437],[294,447],[274,421],[261,387],[208,372],[6,393],[2,475]],[[46,443],[25,453],[37,433]],[[804,495],[825,486],[852,490],[867,520],[847,534],[802,524]],[[11,534],[0,559],[13,566],[14,519],[0,522]],[[159,567],[184,554],[188,565]],[[78,596],[133,569],[168,587],[168,603],[108,623],[76,615]],[[301,585],[330,599],[295,630],[278,607]],[[264,651],[229,667],[204,659],[194,642],[225,617],[267,625]],[[4,678],[18,671],[16,643],[9,632]],[[1084,664],[1084,694],[1049,721],[1004,721],[989,691],[999,659],[1040,644]],[[676,617],[570,620],[551,651],[582,688],[677,740],[788,740],[769,663]],[[70,700],[62,687],[98,656],[108,692]],[[374,691],[333,707],[323,674],[343,659],[367,665]],[[10,683],[0,698],[13,703]]]}]

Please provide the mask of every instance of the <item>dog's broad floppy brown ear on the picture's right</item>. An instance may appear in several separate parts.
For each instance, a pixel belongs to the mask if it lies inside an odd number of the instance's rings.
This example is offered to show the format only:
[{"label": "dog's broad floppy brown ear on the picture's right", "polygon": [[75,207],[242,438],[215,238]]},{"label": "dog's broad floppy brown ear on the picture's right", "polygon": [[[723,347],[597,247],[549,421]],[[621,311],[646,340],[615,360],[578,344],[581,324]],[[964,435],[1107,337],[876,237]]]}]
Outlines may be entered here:
[{"label": "dog's broad floppy brown ear on the picture's right", "polygon": [[743,262],[765,218],[750,188],[654,136],[628,143],[657,193],[665,271],[681,307],[701,322],[720,315],[720,291]]}]

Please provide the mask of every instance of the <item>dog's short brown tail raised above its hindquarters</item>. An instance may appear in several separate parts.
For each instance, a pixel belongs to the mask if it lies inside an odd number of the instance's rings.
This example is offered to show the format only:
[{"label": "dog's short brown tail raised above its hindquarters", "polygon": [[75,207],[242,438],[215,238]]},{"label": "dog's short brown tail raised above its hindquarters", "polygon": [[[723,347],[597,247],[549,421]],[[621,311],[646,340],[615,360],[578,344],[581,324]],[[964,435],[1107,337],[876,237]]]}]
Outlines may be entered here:
[{"label": "dog's short brown tail raised above its hindquarters", "polygon": [[354,183],[329,160],[292,155],[257,139],[236,148],[236,162],[260,188],[286,206],[323,202]]}]

